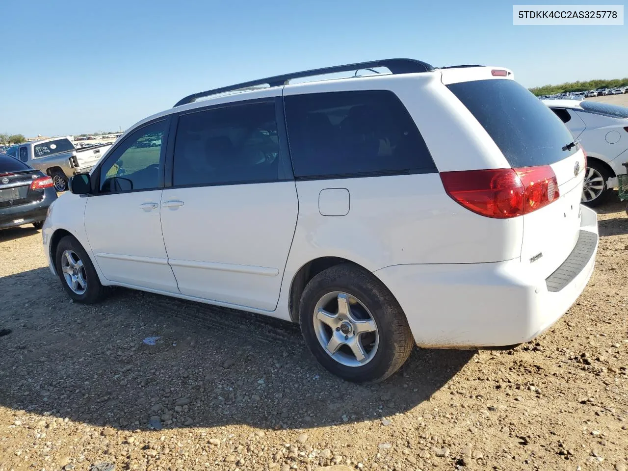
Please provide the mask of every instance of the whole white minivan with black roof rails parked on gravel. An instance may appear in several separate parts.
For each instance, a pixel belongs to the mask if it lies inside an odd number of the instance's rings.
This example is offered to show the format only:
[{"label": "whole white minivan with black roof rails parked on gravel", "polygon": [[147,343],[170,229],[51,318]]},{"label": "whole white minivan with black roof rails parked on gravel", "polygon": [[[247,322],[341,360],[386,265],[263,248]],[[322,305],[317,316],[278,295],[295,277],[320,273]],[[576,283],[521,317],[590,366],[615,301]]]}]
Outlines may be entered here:
[{"label": "whole white minivan with black roof rails parked on gravel", "polygon": [[414,345],[521,344],[570,308],[598,245],[585,158],[505,68],[308,70],[138,122],[43,243],[75,301],[116,285],[297,322],[329,371],[381,381]]}]

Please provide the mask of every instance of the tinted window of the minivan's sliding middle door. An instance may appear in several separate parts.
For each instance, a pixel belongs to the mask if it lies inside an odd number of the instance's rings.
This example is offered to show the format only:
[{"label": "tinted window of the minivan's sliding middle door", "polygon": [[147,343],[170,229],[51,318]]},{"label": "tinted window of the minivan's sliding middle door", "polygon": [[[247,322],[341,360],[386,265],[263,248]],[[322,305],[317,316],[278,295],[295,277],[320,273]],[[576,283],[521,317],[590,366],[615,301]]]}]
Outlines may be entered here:
[{"label": "tinted window of the minivan's sliding middle door", "polygon": [[179,116],[173,185],[278,181],[274,101],[236,104]]}]

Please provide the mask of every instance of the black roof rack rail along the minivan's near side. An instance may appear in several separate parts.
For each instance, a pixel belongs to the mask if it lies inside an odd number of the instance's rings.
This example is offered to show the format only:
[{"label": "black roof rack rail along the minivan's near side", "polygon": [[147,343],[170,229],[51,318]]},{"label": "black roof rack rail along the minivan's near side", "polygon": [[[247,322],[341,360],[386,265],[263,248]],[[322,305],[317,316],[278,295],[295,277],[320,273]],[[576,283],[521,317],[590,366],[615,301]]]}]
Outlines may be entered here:
[{"label": "black roof rack rail along the minivan's near side", "polygon": [[324,75],[327,73],[338,72],[350,72],[351,70],[362,70],[375,67],[386,67],[391,73],[415,73],[415,72],[432,72],[434,68],[420,60],[415,59],[382,59],[374,60],[371,62],[357,62],[354,64],[337,65],[335,67],[323,67],[313,68],[311,70],[304,70],[303,72],[286,73],[284,75],[276,75],[274,77],[260,78],[259,80],[251,80],[250,82],[244,82],[237,85],[229,85],[229,87],[222,87],[220,89],[207,90],[205,92],[198,92],[179,100],[175,104],[177,106],[192,103],[195,100],[210,95],[217,95],[219,93],[231,92],[236,90],[242,90],[255,85],[270,85],[271,87],[277,87],[278,85],[285,85],[288,80],[293,78],[314,77],[315,75]]}]

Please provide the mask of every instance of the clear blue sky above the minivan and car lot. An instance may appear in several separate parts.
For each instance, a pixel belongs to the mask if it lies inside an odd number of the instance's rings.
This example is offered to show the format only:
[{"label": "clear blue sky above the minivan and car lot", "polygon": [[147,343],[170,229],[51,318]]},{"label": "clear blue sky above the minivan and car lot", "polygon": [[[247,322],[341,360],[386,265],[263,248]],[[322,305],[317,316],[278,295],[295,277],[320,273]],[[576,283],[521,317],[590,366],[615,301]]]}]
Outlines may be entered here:
[{"label": "clear blue sky above the minivan and car lot", "polygon": [[1,15],[0,132],[26,136],[124,130],[200,90],[389,57],[501,65],[526,87],[628,76],[627,26],[513,26],[504,1],[3,0]]}]

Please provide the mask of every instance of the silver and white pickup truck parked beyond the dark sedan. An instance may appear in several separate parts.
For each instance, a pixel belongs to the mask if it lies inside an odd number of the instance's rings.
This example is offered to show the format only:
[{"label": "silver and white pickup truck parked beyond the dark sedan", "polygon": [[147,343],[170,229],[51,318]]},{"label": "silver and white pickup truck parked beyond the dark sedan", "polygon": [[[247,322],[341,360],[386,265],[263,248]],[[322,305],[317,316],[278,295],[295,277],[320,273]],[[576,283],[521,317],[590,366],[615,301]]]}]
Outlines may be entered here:
[{"label": "silver and white pickup truck parked beyond the dark sedan", "polygon": [[53,138],[17,144],[7,149],[6,153],[50,175],[55,189],[64,192],[70,176],[92,170],[111,144],[78,149],[69,138]]}]

